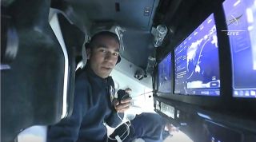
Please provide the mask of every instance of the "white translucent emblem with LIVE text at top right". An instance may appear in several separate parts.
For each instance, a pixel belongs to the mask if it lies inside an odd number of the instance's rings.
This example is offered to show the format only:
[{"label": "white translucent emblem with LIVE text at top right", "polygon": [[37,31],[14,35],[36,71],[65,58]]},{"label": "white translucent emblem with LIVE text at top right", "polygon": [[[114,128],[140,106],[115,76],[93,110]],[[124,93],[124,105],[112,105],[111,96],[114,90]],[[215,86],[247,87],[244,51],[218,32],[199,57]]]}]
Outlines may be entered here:
[{"label": "white translucent emblem with LIVE text at top right", "polygon": [[[230,14],[229,20],[226,21],[226,26],[238,26],[239,20],[242,18],[242,15],[234,16],[233,14]],[[228,36],[238,36],[240,32],[244,32],[246,30],[222,30],[222,32],[225,32]]]}]

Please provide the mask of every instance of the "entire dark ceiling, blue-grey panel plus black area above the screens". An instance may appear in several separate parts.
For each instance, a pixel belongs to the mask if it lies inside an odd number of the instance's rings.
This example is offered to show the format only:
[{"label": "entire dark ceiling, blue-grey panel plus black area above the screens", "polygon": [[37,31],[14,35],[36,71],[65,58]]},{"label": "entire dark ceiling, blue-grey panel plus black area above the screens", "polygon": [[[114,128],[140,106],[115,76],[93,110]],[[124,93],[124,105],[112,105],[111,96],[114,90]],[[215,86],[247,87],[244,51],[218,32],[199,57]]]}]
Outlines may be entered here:
[{"label": "entire dark ceiling, blue-grey panel plus black area above the screens", "polygon": [[[165,56],[200,24],[223,0],[53,0],[58,8],[86,34],[103,26],[118,25],[123,33],[125,51],[122,57],[146,69],[148,57],[154,54],[152,26],[169,28],[157,56]],[[101,27],[102,26],[102,27]],[[106,27],[104,27],[106,29]],[[102,28],[102,29],[104,29]]]}]

